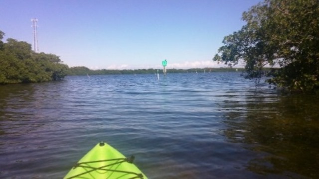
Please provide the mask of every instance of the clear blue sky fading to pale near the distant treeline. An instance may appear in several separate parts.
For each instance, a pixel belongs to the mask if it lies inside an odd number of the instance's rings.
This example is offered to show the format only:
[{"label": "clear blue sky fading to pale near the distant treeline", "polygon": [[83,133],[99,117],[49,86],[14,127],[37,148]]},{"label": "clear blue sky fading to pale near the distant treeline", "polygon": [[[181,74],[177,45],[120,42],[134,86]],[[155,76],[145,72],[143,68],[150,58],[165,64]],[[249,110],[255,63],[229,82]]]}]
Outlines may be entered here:
[{"label": "clear blue sky fading to pale near the distant treeline", "polygon": [[[33,44],[70,67],[90,69],[220,67],[223,37],[245,24],[261,0],[0,0],[5,38]],[[223,65],[222,65],[223,66]]]}]

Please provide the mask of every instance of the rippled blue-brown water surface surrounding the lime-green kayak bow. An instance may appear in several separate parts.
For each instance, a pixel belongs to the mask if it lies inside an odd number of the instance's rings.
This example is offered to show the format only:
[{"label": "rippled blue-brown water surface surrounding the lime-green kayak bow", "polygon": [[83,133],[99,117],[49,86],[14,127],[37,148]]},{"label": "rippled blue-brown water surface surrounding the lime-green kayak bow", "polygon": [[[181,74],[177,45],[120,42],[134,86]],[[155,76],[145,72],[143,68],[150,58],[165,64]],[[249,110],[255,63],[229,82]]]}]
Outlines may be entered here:
[{"label": "rippled blue-brown water surface surrounding the lime-green kayak bow", "polygon": [[319,178],[318,101],[240,73],[0,86],[0,178],[63,178],[100,141],[152,179]]}]

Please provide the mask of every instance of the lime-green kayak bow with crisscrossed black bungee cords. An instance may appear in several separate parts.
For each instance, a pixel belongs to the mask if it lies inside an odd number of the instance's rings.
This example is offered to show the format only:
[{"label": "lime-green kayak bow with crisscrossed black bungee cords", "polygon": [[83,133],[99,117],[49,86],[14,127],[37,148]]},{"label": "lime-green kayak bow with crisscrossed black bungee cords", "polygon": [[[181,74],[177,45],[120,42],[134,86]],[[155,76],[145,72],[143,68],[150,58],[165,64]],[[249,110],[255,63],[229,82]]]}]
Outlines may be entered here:
[{"label": "lime-green kayak bow with crisscrossed black bungee cords", "polygon": [[133,164],[105,142],[98,143],[69,171],[64,179],[147,179]]}]

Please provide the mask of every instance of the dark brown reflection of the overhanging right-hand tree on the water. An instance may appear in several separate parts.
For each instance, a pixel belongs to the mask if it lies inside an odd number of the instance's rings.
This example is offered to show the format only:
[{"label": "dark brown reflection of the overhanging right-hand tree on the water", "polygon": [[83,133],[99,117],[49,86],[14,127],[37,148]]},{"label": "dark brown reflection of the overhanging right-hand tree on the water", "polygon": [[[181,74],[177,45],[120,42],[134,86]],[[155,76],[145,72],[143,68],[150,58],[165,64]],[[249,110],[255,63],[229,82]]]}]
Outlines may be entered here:
[{"label": "dark brown reflection of the overhanging right-hand tree on the water", "polygon": [[[247,169],[259,174],[319,177],[319,97],[248,95],[224,101],[224,131],[230,142],[260,153]],[[248,144],[248,145],[247,145]],[[247,147],[248,146],[248,147]]]}]

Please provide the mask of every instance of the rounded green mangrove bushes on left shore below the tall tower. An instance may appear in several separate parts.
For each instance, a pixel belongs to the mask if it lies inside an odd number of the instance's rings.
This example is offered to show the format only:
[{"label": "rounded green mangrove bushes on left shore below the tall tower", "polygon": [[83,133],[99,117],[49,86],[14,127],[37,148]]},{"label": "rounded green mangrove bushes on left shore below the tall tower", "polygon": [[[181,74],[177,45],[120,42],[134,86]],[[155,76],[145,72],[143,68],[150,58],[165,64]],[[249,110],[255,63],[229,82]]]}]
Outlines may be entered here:
[{"label": "rounded green mangrove bushes on left shore below the tall tower", "polygon": [[[3,35],[0,31],[0,39]],[[68,70],[61,63],[56,55],[34,53],[26,42],[11,38],[7,43],[0,41],[0,84],[61,80]]]}]

